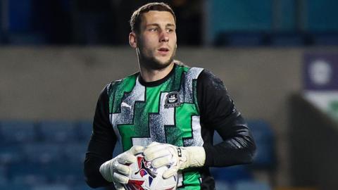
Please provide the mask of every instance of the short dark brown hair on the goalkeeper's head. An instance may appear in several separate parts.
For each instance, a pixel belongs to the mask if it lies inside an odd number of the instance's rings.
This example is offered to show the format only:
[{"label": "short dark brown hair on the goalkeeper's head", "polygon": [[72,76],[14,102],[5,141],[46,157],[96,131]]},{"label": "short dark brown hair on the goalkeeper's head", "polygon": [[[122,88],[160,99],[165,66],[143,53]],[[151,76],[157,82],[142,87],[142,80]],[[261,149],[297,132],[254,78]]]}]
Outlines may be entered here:
[{"label": "short dark brown hair on the goalkeeper's head", "polygon": [[132,32],[139,33],[140,25],[142,22],[142,14],[149,11],[167,11],[171,13],[174,17],[176,23],[176,16],[172,8],[165,3],[149,3],[145,4],[138,8],[134,13],[132,13],[132,18],[130,18],[130,27]]}]

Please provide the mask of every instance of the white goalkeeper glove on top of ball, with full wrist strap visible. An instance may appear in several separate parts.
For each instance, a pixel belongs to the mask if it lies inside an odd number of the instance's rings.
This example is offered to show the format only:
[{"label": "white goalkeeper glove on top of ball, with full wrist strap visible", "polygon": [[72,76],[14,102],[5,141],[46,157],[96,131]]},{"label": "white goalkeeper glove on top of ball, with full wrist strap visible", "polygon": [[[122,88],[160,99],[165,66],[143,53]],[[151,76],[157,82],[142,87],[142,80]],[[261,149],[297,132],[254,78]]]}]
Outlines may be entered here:
[{"label": "white goalkeeper glove on top of ball, with full wrist strap visible", "polygon": [[144,149],[144,158],[152,162],[153,167],[172,165],[163,173],[163,178],[169,178],[178,170],[187,167],[202,167],[206,161],[206,151],[203,146],[174,146],[153,142]]}]

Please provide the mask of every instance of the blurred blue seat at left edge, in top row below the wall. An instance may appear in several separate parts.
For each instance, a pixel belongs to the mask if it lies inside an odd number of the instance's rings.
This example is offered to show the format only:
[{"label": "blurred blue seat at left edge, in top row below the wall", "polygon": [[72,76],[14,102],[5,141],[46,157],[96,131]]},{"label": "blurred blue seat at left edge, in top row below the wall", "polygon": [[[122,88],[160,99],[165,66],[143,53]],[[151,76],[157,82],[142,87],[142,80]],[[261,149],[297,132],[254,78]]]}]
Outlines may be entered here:
[{"label": "blurred blue seat at left edge, in top row below the wall", "polygon": [[37,140],[34,122],[19,120],[2,121],[0,134],[4,144],[27,143]]}]

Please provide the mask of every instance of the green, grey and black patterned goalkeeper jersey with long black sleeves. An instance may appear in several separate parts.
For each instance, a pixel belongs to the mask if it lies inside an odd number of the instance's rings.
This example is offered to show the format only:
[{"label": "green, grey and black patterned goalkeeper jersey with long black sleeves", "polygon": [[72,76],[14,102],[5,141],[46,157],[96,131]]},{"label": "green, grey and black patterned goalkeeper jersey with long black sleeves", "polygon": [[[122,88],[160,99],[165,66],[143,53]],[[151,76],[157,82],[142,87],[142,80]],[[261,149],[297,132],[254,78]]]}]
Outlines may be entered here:
[{"label": "green, grey and black patterned goalkeeper jersey with long black sleeves", "polygon": [[[213,132],[224,141],[213,144]],[[153,141],[204,146],[204,167],[179,172],[179,189],[214,189],[208,167],[249,163],[255,144],[223,83],[202,68],[175,65],[163,79],[144,82],[139,72],[108,84],[96,106],[84,172],[89,186],[104,186],[98,168],[116,141],[127,151]]]}]

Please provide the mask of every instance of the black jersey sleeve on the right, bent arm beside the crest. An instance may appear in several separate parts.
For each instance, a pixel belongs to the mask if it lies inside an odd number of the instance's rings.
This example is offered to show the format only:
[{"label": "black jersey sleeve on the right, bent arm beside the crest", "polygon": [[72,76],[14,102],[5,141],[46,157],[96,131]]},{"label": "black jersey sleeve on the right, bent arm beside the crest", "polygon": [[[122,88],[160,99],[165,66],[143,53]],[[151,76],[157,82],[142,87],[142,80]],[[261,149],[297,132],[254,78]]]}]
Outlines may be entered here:
[{"label": "black jersey sleeve on the right, bent arm beside the crest", "polygon": [[[197,79],[197,101],[202,127],[211,136],[204,143],[206,166],[225,167],[251,163],[256,145],[241,113],[234,107],[223,82],[208,70]],[[223,141],[213,145],[213,131]]]}]

